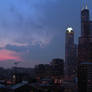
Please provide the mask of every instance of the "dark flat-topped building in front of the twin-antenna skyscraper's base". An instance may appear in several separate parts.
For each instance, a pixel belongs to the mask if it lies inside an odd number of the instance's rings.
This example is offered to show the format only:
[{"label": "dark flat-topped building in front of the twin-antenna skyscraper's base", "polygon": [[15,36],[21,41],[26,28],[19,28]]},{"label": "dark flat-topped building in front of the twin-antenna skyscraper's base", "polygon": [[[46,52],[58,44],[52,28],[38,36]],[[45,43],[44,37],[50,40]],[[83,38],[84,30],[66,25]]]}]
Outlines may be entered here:
[{"label": "dark flat-topped building in front of the twin-antenna skyscraper's base", "polygon": [[82,62],[79,67],[79,92],[92,92],[92,62]]}]

